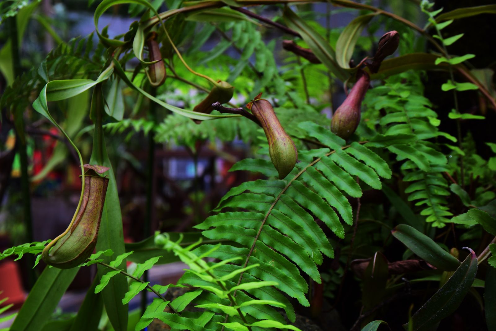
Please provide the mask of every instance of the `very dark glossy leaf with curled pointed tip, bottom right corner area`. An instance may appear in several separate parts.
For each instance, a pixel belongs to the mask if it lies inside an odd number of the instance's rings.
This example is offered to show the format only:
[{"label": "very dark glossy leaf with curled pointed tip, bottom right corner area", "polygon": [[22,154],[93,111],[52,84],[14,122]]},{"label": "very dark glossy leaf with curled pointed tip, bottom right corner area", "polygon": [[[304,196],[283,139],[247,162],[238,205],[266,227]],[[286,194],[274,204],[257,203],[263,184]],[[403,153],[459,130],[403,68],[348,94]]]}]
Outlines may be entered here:
[{"label": "very dark glossy leaf with curled pointed tip, bottom right corner area", "polygon": [[411,327],[413,330],[432,330],[432,326],[451,315],[469,291],[476,274],[477,256],[470,249],[469,256],[453,275],[412,316]]}]

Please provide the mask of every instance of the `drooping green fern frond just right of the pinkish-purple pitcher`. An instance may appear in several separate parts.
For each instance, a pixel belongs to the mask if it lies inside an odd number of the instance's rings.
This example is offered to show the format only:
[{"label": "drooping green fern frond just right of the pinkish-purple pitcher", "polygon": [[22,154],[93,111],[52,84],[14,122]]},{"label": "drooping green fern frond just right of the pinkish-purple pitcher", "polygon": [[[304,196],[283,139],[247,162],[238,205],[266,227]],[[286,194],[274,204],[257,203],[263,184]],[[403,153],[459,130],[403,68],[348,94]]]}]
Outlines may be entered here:
[{"label": "drooping green fern frond just right of the pinkish-purple pitcher", "polygon": [[[423,96],[420,77],[414,73],[393,76],[383,86],[371,89],[365,104],[368,106],[366,116],[372,119],[369,123],[380,124],[385,135],[415,135],[416,140],[387,149],[402,162],[404,180],[411,182],[405,190],[408,200],[422,208],[420,214],[427,217],[426,221],[443,227],[452,215],[444,198],[449,195],[448,184],[442,176],[442,172],[448,170],[447,159],[430,140],[456,141],[456,138],[437,128],[439,120],[431,109],[432,104]],[[379,110],[385,111],[385,115],[379,116]]]}]

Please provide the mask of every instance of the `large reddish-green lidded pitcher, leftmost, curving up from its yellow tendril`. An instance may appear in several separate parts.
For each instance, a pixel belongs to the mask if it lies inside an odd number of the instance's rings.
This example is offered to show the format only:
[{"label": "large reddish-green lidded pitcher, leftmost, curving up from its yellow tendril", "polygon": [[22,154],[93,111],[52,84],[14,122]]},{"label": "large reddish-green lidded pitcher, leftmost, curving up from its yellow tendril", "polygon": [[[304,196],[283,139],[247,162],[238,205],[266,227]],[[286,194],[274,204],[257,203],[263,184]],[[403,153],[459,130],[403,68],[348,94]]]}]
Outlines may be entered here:
[{"label": "large reddish-green lidded pitcher, leftmost, curving up from its yellow tendril", "polygon": [[[109,179],[100,176],[109,168],[101,165],[84,165],[84,192],[77,215],[69,227],[52,240],[42,252],[46,264],[70,269],[83,263],[95,249],[98,229]],[[98,172],[98,173],[97,173]]]}]

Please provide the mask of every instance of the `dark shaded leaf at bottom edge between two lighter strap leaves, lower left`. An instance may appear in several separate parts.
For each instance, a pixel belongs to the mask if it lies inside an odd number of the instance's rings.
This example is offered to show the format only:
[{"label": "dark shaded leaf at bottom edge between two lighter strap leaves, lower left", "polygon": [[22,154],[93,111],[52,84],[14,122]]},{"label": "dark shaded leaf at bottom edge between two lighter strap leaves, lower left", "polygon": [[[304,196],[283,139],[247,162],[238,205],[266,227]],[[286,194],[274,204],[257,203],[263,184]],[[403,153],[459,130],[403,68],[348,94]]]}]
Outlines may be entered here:
[{"label": "dark shaded leaf at bottom edge between two lighter strap leaves, lower left", "polygon": [[76,318],[69,331],[97,330],[103,312],[103,298],[95,293],[98,277],[95,277],[91,287],[86,291],[84,301],[77,311]]}]

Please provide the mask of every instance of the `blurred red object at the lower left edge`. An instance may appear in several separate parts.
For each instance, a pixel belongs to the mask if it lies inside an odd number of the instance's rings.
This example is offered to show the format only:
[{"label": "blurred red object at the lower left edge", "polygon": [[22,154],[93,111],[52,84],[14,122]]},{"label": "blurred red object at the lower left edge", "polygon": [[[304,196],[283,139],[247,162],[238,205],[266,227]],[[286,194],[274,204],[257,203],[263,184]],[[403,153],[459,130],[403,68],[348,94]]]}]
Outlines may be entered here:
[{"label": "blurred red object at the lower left edge", "polygon": [[0,299],[8,298],[0,307],[13,304],[10,309],[19,309],[26,298],[21,284],[19,267],[14,261],[0,262]]}]

